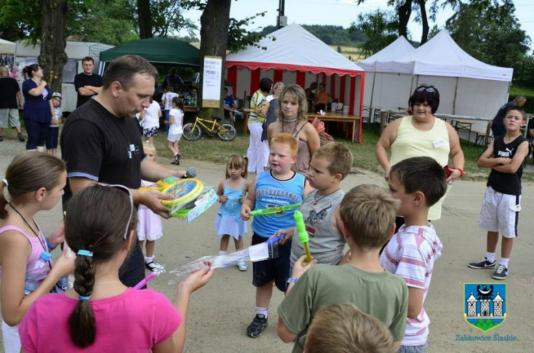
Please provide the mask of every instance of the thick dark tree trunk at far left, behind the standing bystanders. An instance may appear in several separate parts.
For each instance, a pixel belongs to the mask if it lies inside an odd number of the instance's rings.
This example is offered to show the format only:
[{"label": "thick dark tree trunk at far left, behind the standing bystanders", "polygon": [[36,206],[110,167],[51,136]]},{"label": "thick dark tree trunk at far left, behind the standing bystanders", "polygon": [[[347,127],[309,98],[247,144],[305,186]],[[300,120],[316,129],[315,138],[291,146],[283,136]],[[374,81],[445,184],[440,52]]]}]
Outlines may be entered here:
[{"label": "thick dark tree trunk at far left, behind the standing bystanders", "polygon": [[41,0],[41,51],[38,57],[43,79],[54,92],[61,92],[63,67],[67,62],[66,0]]}]

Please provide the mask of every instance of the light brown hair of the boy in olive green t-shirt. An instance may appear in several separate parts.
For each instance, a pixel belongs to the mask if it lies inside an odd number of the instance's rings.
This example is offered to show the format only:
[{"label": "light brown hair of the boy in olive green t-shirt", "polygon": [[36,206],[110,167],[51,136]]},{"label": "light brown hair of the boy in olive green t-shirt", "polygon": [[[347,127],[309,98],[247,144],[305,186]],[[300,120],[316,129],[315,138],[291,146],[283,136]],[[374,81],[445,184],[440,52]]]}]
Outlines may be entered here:
[{"label": "light brown hair of the boy in olive green t-shirt", "polygon": [[340,216],[354,244],[372,250],[390,239],[400,205],[383,187],[364,184],[345,194]]}]

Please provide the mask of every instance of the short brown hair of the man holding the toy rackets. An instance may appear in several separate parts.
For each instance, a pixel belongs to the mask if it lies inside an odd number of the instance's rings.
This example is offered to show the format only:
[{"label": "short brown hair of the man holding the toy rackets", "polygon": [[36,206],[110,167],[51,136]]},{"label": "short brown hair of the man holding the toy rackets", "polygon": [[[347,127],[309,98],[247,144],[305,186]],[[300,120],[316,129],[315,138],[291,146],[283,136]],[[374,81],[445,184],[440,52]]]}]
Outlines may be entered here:
[{"label": "short brown hair of the man holding the toy rackets", "polygon": [[117,57],[105,69],[103,88],[110,88],[114,81],[118,81],[128,91],[133,86],[133,77],[137,74],[151,76],[155,81],[157,80],[156,68],[139,55],[123,55]]}]

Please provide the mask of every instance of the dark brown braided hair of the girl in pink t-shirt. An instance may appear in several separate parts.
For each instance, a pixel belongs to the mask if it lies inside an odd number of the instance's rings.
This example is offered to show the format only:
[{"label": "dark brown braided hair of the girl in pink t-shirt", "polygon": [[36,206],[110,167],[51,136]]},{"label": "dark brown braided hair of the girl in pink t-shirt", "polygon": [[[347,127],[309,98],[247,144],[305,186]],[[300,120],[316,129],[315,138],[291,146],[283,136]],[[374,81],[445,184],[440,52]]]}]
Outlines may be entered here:
[{"label": "dark brown braided hair of the girl in pink t-shirt", "polygon": [[[136,229],[134,211],[125,191],[98,184],[82,189],[68,202],[66,243],[75,253],[79,250],[93,253],[92,257],[75,259],[74,289],[80,296],[91,296],[97,267],[124,248],[125,231],[129,235]],[[68,319],[68,328],[77,347],[86,348],[94,343],[97,327],[89,300],[78,300]]]}]

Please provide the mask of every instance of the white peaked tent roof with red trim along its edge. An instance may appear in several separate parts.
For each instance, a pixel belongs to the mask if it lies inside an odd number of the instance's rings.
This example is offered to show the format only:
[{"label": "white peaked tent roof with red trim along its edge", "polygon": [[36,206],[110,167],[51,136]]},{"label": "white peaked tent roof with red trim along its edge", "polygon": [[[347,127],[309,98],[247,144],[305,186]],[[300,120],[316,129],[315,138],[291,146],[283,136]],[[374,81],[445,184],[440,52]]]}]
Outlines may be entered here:
[{"label": "white peaked tent roof with red trim along its edge", "polygon": [[[276,38],[272,40],[272,37]],[[296,23],[283,27],[239,53],[226,57],[226,66],[251,70],[298,70],[332,75],[361,75],[364,71]],[[262,49],[265,47],[266,50]]]}]

